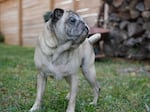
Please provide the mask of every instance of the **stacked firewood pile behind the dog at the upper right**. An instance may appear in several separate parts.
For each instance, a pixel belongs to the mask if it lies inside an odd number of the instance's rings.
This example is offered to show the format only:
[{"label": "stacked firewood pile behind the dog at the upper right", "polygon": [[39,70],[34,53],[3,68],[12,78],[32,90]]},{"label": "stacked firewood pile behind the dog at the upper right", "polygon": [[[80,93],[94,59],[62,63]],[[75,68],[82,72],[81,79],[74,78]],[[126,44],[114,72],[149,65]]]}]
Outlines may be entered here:
[{"label": "stacked firewood pile behind the dog at the upper right", "polygon": [[104,0],[109,6],[104,40],[108,56],[150,59],[150,0]]}]

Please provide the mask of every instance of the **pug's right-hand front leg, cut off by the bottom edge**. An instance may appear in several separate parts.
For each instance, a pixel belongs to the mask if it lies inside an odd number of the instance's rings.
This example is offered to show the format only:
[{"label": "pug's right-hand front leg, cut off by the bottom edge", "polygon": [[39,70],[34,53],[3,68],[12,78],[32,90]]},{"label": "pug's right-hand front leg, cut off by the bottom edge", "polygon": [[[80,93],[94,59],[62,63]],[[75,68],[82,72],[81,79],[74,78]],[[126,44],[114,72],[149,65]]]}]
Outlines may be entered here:
[{"label": "pug's right-hand front leg, cut off by the bottom edge", "polygon": [[76,102],[76,95],[78,91],[78,77],[77,75],[72,75],[71,76],[71,81],[70,81],[70,98],[69,98],[69,104],[67,107],[66,112],[75,112],[75,102]]}]

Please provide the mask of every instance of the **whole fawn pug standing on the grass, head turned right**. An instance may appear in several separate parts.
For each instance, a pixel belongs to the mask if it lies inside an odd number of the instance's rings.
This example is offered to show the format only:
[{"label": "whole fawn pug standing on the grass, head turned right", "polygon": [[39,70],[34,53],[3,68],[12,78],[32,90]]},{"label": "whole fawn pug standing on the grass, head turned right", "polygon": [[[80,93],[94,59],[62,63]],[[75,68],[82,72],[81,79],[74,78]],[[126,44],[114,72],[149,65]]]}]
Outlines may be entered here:
[{"label": "whole fawn pug standing on the grass, head turned right", "polygon": [[94,92],[91,104],[96,105],[100,85],[96,81],[94,66],[95,54],[93,43],[100,39],[100,34],[88,37],[88,26],[73,11],[56,8],[47,13],[45,26],[35,48],[34,62],[39,71],[37,76],[37,95],[30,112],[41,108],[47,77],[56,80],[64,78],[70,85],[69,100],[66,112],[75,112],[75,101],[78,91],[78,71],[81,68],[85,79]]}]

